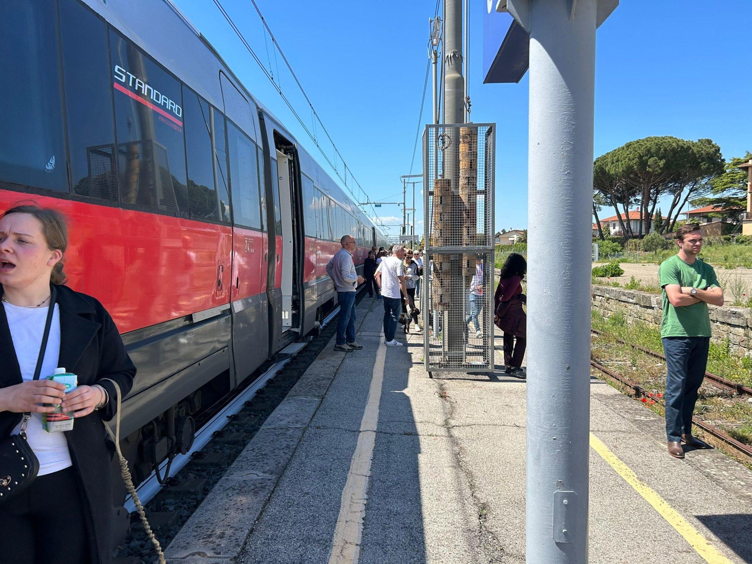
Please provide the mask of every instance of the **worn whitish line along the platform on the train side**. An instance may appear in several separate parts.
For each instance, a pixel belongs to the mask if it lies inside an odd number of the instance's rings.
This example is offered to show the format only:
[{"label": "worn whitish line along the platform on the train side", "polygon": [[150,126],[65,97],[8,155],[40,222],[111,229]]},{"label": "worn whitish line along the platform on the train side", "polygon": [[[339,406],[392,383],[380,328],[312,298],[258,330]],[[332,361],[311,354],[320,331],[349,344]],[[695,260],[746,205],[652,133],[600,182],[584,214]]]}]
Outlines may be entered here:
[{"label": "worn whitish line along the platform on the train side", "polygon": [[368,503],[368,478],[371,476],[371,459],[376,442],[378,407],[381,402],[381,385],[384,382],[384,361],[387,345],[384,337],[379,340],[376,362],[368,390],[368,402],[360,421],[358,444],[350,461],[350,472],[342,490],[339,517],[332,541],[332,555],[329,564],[356,564],[360,556],[360,538],[363,532],[365,504]]}]

